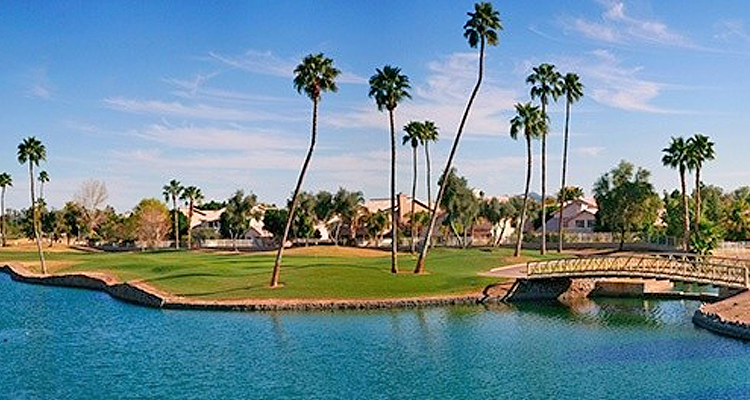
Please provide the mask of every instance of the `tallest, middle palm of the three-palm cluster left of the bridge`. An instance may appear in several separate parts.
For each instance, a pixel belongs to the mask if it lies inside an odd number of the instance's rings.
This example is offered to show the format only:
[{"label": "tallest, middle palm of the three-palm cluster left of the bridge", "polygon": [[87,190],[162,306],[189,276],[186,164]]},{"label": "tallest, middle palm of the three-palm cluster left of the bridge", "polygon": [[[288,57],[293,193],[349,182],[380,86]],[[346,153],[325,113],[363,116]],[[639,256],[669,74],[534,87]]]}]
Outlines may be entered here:
[{"label": "tallest, middle palm of the three-palm cluster left of the bridge", "polygon": [[[560,88],[560,73],[555,71],[555,66],[552,64],[540,64],[538,67],[533,68],[531,75],[526,77],[526,83],[531,86],[531,98],[539,99],[542,104],[542,115],[545,120],[549,121],[547,115],[547,104],[549,104],[550,97],[553,100],[562,93]],[[544,132],[542,136],[542,246],[540,248],[541,254],[547,252],[547,133]]]}]

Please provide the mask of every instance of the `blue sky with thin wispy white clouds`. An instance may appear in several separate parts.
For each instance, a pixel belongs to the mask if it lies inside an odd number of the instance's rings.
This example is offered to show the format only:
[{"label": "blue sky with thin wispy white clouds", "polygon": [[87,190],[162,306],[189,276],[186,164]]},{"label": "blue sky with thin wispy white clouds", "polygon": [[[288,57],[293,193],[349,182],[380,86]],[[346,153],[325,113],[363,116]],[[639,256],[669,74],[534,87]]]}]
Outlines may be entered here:
[{"label": "blue sky with thin wispy white clouds", "polygon": [[[626,159],[652,171],[658,190],[678,186],[661,166],[671,136],[716,142],[705,182],[748,184],[750,5],[745,1],[495,2],[504,30],[487,50],[485,83],[455,166],[489,195],[523,190],[525,148],[508,135],[513,105],[529,101],[531,67],[576,72],[568,182],[587,195]],[[311,103],[292,86],[306,54],[342,70],[324,94],[307,190],[343,186],[365,197],[389,188],[387,115],[367,97],[375,68],[398,66],[413,99],[397,126],[430,119],[434,179],[476,78],[463,38],[471,1],[0,2],[0,171],[13,175],[7,206],[28,206],[18,143],[47,147],[42,168],[56,208],[90,179],[127,211],[161,197],[170,179],[207,199],[236,189],[281,204],[309,140]],[[548,187],[559,187],[564,103],[550,108]],[[401,133],[399,133],[399,136]],[[538,191],[538,145],[533,185]],[[398,189],[409,192],[411,154],[399,146]],[[421,164],[420,174],[424,171]],[[418,197],[424,197],[420,179]],[[434,192],[434,191],[433,191]]]}]

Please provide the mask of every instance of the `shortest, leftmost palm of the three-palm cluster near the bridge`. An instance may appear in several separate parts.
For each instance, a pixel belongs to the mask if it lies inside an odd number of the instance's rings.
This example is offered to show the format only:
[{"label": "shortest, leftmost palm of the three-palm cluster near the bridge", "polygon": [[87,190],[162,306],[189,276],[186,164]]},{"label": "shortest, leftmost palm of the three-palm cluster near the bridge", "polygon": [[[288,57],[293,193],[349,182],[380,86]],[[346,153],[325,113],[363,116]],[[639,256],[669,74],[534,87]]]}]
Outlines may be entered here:
[{"label": "shortest, leftmost palm of the three-palm cluster near the bridge", "polygon": [[529,201],[529,185],[531,185],[531,139],[544,137],[547,132],[547,119],[544,118],[539,107],[531,103],[516,104],[517,115],[510,120],[510,137],[518,139],[518,134],[523,132],[526,139],[526,186],[523,192],[523,206],[521,207],[521,218],[518,222],[518,239],[516,241],[515,257],[521,255],[521,244],[523,243],[523,227],[526,223],[526,208]]}]

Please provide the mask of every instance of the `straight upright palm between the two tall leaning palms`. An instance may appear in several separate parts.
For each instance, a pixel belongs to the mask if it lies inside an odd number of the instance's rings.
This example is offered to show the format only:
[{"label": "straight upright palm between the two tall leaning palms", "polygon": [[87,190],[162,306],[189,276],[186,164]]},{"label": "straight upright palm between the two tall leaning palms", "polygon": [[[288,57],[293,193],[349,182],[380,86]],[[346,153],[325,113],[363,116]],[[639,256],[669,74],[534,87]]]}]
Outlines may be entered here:
[{"label": "straight upright palm between the two tall leaning palms", "polygon": [[379,111],[388,110],[388,120],[391,128],[391,272],[398,273],[396,252],[398,251],[398,212],[396,210],[396,128],[393,121],[393,111],[404,99],[411,98],[409,94],[409,77],[401,74],[401,69],[386,65],[383,69],[376,69],[375,75],[370,77],[370,97],[375,99]]}]

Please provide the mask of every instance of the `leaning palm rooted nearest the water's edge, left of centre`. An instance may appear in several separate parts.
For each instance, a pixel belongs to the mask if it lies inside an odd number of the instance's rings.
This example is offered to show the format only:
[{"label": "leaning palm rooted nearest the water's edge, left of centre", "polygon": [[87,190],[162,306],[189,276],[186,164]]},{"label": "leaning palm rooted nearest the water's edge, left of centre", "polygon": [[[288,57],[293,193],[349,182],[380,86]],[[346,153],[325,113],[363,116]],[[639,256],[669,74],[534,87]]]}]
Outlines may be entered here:
[{"label": "leaning palm rooted nearest the water's edge, left of centre", "polygon": [[284,236],[282,237],[279,249],[276,252],[276,260],[273,264],[273,274],[271,275],[271,287],[277,287],[279,285],[281,257],[284,252],[284,243],[286,243],[286,240],[289,237],[289,231],[292,228],[294,212],[297,209],[298,203],[297,197],[302,189],[302,182],[305,179],[307,167],[310,165],[313,149],[315,149],[315,141],[317,140],[318,135],[318,103],[320,102],[320,96],[323,92],[336,92],[338,90],[338,87],[336,86],[336,77],[338,77],[339,74],[341,74],[341,71],[333,66],[333,60],[325,57],[323,53],[307,55],[294,69],[294,88],[297,90],[297,93],[301,94],[302,92],[305,92],[307,97],[313,102],[312,133],[310,134],[310,148],[307,150],[307,156],[305,156],[305,161],[302,163],[302,169],[297,178],[297,186],[295,186],[294,194],[292,195],[292,204],[289,206],[289,213],[287,215],[286,225],[284,226]]}]

